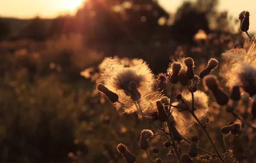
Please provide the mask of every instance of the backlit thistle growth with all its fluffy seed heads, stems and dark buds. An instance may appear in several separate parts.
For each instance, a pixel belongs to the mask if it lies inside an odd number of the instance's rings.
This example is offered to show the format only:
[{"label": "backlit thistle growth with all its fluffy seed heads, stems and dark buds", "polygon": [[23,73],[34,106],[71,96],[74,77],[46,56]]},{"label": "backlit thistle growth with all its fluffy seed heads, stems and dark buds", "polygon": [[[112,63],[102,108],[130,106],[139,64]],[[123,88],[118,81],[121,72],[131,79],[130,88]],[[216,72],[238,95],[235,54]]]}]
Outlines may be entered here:
[{"label": "backlit thistle growth with all its fluffy seed heads, stems and dark buds", "polygon": [[[249,12],[241,12],[239,19],[241,20],[241,30],[247,33]],[[255,41],[253,40],[247,50],[233,49],[222,54],[227,59],[223,67],[225,65],[231,67],[221,74],[226,79],[226,86],[230,88],[230,93],[224,91],[218,78],[211,74],[219,66],[218,60],[211,58],[207,66],[196,75],[195,63],[191,57],[172,60],[167,69],[167,75],[160,73],[157,78],[143,60],[125,66],[119,61],[119,58],[106,58],[100,65],[103,82],[98,84],[97,89],[105,94],[110,102],[114,103],[117,110],[127,114],[135,112],[140,119],[148,120],[152,127],[156,128],[157,132],[155,133],[152,130],[142,130],[140,133],[138,147],[146,152],[149,162],[161,163],[163,161],[160,158],[155,159],[161,149],[154,148],[152,150],[153,157],[148,151],[149,140],[155,136],[162,136],[163,147],[170,150],[169,154],[175,154],[180,163],[194,163],[195,160],[210,159],[218,159],[222,163],[228,161],[233,163],[236,160],[232,154],[233,151],[228,149],[225,138],[230,135],[237,136],[242,131],[242,124],[253,130],[256,129],[249,121],[241,118],[235,109],[238,102],[243,99],[242,93],[248,93],[252,98],[252,120],[256,118],[256,51],[254,46]],[[209,95],[198,89],[201,81],[205,90],[210,90]],[[158,82],[157,85],[155,85],[156,82]],[[171,85],[171,90],[167,90],[166,85]],[[183,90],[178,91],[178,86]],[[171,92],[169,97],[165,94],[168,91]],[[242,123],[232,122],[228,126],[219,128],[219,134],[223,134],[223,143],[225,144],[225,149],[221,151],[208,133],[209,118],[207,118],[206,124],[201,121],[210,110],[210,96],[213,96],[219,106],[226,107],[226,111]],[[176,100],[173,100],[174,97]],[[214,153],[199,147],[198,139],[200,137],[192,136],[191,140],[186,139],[185,135],[195,125],[199,125],[204,131]],[[188,153],[184,153],[180,148],[180,143],[183,141],[189,143]],[[125,145],[119,144],[117,149],[125,157],[127,163],[136,161],[134,154],[129,152]],[[204,155],[199,154],[201,152]]]}]

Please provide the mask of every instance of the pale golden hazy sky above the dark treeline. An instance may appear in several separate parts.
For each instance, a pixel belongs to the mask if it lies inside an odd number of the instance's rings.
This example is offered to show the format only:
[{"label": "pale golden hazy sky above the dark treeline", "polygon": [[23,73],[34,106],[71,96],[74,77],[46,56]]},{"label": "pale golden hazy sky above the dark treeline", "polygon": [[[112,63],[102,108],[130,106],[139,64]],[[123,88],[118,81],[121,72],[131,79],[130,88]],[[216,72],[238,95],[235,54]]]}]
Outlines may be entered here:
[{"label": "pale golden hazy sky above the dark treeline", "polygon": [[[83,0],[0,0],[0,16],[32,18],[39,15],[53,18],[60,13],[73,12]],[[168,11],[175,12],[184,0],[158,0]],[[250,30],[256,31],[256,0],[219,0],[219,11],[227,10],[238,17],[242,10],[250,11]]]}]

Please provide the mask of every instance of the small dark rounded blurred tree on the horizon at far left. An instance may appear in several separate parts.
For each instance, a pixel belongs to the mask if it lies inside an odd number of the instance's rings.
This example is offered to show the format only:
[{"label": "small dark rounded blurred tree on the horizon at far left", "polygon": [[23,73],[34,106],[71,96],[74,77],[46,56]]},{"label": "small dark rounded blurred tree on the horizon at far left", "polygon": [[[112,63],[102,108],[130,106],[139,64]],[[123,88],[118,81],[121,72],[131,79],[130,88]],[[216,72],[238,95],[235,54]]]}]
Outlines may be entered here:
[{"label": "small dark rounded blurred tree on the horizon at far left", "polygon": [[36,17],[21,31],[21,35],[27,39],[42,41],[47,38],[47,25],[40,17]]}]

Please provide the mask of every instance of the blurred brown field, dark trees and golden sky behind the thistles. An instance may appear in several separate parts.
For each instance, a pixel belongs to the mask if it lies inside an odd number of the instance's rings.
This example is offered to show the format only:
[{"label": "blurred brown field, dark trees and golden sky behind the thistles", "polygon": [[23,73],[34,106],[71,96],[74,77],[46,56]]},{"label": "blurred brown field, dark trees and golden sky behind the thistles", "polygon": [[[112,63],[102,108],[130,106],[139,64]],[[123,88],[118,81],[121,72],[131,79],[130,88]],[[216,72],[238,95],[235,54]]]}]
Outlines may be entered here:
[{"label": "blurred brown field, dark trees and golden sky behind the thistles", "polygon": [[[157,75],[166,72],[172,58],[192,57],[198,74],[211,57],[222,64],[222,52],[244,46],[247,39],[239,30],[238,15],[254,11],[255,4],[253,0],[1,1],[0,162],[124,163],[116,150],[119,143],[137,156],[137,163],[148,162],[138,148],[140,131],[155,129],[136,115],[117,112],[95,90],[95,83],[101,82],[98,64],[110,56],[126,64],[141,58]],[[251,12],[249,33],[255,31],[256,14]],[[218,73],[219,69],[214,72]],[[212,99],[210,106],[210,133],[223,153],[219,129],[235,119]],[[241,114],[245,107],[241,106]],[[199,127],[188,133],[193,134],[199,136],[198,146],[213,151]],[[152,139],[150,148],[161,149],[158,157],[163,163],[174,163],[176,158],[166,155],[161,141],[160,136]],[[256,163],[253,141],[244,132],[231,136],[227,144],[241,163]],[[189,145],[182,144],[187,151]]]}]

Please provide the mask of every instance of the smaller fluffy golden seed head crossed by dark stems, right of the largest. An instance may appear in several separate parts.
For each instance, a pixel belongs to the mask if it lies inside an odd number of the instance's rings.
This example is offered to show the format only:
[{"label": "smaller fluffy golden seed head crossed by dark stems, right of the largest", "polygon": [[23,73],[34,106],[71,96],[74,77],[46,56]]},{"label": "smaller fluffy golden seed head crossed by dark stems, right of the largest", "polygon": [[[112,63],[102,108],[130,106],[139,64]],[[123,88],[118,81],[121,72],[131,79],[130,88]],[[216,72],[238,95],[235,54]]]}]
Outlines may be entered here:
[{"label": "smaller fluffy golden seed head crossed by dark stems, right of the largest", "polygon": [[[192,96],[189,91],[183,91],[181,94],[178,94],[176,98],[177,102],[172,103],[172,105],[178,108],[171,107],[173,110],[172,115],[177,119],[175,127],[180,133],[185,133],[186,130],[196,122],[189,112],[189,109],[192,108]],[[209,111],[208,100],[209,97],[204,92],[196,91],[194,93],[195,115],[199,119],[203,118],[205,113]],[[186,108],[186,106],[188,106],[189,109]]]}]

